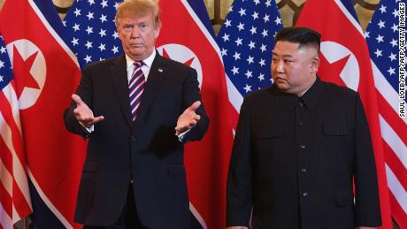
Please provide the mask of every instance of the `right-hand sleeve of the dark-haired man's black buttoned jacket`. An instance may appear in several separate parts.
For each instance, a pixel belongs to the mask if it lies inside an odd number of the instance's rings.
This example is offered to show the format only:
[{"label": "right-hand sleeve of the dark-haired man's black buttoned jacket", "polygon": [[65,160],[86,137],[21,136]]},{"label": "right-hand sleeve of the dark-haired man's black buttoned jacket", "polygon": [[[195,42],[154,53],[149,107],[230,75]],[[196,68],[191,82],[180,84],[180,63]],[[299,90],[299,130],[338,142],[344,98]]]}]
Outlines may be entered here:
[{"label": "right-hand sleeve of the dark-haired man's black buttoned jacket", "polygon": [[381,225],[379,188],[372,139],[359,95],[355,112],[356,225]]}]

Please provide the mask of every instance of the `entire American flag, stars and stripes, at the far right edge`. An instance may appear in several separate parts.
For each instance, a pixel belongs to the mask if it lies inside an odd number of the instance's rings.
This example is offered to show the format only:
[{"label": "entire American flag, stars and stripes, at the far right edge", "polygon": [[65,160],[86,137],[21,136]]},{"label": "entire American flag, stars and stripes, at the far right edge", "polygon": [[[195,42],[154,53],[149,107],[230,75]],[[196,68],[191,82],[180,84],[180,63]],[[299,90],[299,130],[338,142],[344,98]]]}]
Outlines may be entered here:
[{"label": "entire American flag, stars and stripes, at the far right edge", "polygon": [[400,228],[407,228],[407,118],[398,116],[404,102],[399,91],[399,11],[402,1],[380,1],[365,38],[372,59],[378,91],[381,137],[392,216]]}]

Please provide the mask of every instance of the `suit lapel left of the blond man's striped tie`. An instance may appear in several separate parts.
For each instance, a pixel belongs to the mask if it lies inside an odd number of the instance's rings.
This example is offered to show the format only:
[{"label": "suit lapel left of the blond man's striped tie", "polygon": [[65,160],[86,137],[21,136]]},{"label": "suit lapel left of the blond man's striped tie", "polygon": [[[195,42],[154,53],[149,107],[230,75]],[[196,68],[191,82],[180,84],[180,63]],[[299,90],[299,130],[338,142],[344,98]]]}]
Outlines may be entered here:
[{"label": "suit lapel left of the blond man's striped tie", "polygon": [[127,125],[133,126],[131,118],[130,101],[128,98],[127,64],[126,57],[118,57],[111,66],[111,79],[116,91],[121,111],[126,118]]}]

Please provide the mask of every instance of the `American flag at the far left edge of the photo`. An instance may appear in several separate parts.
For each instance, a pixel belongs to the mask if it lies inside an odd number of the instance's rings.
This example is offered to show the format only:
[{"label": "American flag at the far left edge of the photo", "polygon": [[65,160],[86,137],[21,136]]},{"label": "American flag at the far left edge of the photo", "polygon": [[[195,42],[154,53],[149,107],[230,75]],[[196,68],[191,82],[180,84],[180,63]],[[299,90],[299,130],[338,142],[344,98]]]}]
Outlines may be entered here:
[{"label": "American flag at the far left edge of the photo", "polygon": [[12,65],[0,34],[0,228],[32,212]]}]

